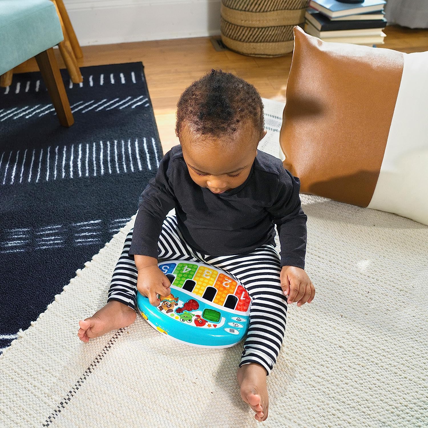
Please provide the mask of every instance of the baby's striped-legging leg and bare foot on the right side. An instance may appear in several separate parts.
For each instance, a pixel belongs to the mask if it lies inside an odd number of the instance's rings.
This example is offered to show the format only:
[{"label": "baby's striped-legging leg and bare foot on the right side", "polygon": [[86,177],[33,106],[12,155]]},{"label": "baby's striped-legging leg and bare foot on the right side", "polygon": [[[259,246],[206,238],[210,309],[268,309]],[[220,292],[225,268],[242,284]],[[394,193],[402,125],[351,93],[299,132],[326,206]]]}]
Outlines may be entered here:
[{"label": "baby's striped-legging leg and bare foot on the right side", "polygon": [[256,419],[268,416],[269,375],[278,357],[285,333],[287,300],[281,288],[280,260],[272,245],[242,256],[205,258],[226,270],[247,289],[252,299],[250,326],[238,369],[241,396],[256,412]]}]

